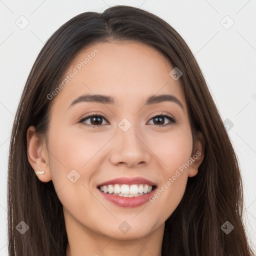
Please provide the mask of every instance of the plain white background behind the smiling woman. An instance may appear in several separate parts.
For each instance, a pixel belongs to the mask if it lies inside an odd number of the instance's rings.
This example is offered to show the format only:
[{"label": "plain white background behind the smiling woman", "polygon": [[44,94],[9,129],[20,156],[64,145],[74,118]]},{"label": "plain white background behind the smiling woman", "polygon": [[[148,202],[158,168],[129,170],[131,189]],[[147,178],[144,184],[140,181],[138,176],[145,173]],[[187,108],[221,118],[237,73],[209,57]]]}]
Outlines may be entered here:
[{"label": "plain white background behind the smiling woman", "polygon": [[[7,255],[10,132],[32,64],[48,37],[68,19],[84,11],[102,12],[116,4],[140,7],[163,18],[180,33],[195,55],[222,120],[228,118],[234,124],[228,133],[241,166],[244,221],[255,246],[255,0],[0,0],[0,256]],[[21,15],[29,21],[24,29],[15,23]],[[234,21],[229,29],[221,24],[226,15]],[[222,22],[230,24],[228,18]]]}]

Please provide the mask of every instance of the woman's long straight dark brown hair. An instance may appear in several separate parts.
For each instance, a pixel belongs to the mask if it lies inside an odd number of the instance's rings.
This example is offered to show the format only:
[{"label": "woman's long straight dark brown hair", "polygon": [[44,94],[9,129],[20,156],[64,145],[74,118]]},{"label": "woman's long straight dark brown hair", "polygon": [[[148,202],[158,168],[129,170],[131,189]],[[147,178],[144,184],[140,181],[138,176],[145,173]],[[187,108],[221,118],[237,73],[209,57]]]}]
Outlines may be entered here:
[{"label": "woman's long straight dark brown hair", "polygon": [[[71,59],[86,45],[133,40],[153,46],[182,71],[191,129],[205,138],[198,173],[189,177],[183,198],[165,221],[162,256],[252,254],[246,238],[243,192],[237,157],[202,72],[185,41],[167,22],[145,10],[116,5],[102,13],[83,12],[59,27],[39,52],[16,111],[8,161],[9,255],[65,255],[67,235],[62,204],[52,181],[41,182],[27,159],[30,125],[46,135],[53,91]],[[16,230],[20,221],[29,229]],[[226,234],[221,225],[234,229]]]}]

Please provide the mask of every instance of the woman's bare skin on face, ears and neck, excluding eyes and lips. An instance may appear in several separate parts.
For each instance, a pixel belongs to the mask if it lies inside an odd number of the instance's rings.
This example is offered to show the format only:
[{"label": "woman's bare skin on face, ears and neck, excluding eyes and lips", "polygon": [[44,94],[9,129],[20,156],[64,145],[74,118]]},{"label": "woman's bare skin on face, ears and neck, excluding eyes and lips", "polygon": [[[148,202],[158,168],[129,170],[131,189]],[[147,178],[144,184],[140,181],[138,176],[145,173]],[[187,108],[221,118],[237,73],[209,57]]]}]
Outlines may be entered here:
[{"label": "woman's bare skin on face, ears and neck, excluding eyes and lips", "polygon": [[[192,144],[183,91],[169,75],[173,67],[152,47],[131,41],[95,43],[75,56],[66,75],[95,48],[99,50],[95,57],[52,99],[47,136],[40,141],[34,126],[28,128],[28,160],[35,171],[45,171],[37,177],[42,182],[52,180],[63,204],[67,256],[161,255],[164,221],[179,204],[188,177],[197,174],[203,137],[200,134]],[[110,95],[117,103],[79,102],[69,107],[87,93]],[[144,105],[155,94],[174,95],[184,111],[169,101]],[[79,123],[86,113],[107,119],[94,124],[101,126],[89,127],[92,118]],[[161,127],[171,123],[164,118],[158,124],[152,118],[161,113],[169,113],[176,123]],[[131,123],[125,132],[118,126],[122,118]],[[96,188],[120,176],[141,176],[160,188],[196,151],[200,156],[154,202],[123,208],[107,201]],[[72,169],[80,174],[74,183],[67,178]],[[118,228],[122,221],[131,227],[125,234]]]}]

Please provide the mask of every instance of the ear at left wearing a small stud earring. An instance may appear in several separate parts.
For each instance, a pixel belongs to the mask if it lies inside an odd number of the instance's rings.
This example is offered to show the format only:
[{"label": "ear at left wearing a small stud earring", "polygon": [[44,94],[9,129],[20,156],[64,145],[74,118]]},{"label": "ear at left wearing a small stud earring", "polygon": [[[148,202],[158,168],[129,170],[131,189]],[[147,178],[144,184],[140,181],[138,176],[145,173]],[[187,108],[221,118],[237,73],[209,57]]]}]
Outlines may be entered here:
[{"label": "ear at left wearing a small stud earring", "polygon": [[[32,166],[35,174],[42,182],[51,180],[48,150],[46,147],[45,139],[39,139],[35,132],[35,127],[30,126],[26,131],[27,142],[27,158]],[[37,174],[37,171],[44,171],[43,174]]]}]

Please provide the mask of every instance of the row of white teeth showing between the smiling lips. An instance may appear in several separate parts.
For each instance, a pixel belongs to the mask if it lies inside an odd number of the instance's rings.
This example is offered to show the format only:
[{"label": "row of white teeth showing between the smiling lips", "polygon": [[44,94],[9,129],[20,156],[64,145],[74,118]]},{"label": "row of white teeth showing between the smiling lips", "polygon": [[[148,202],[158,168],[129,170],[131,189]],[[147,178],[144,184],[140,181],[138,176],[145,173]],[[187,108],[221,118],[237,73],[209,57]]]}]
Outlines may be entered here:
[{"label": "row of white teeth showing between the smiling lips", "polygon": [[109,184],[97,186],[101,192],[122,197],[134,197],[150,193],[156,188],[149,184]]}]

